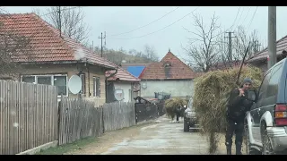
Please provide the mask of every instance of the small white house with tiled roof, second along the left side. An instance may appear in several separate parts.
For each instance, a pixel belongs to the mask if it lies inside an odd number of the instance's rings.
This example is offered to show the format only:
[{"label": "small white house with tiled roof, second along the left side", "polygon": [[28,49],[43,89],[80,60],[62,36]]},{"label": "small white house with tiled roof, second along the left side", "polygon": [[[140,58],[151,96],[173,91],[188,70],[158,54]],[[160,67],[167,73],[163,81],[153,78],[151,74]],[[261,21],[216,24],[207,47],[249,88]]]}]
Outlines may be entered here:
[{"label": "small white house with tiled roof, second along the left side", "polygon": [[[116,65],[115,65],[116,67]],[[140,79],[118,66],[117,70],[106,72],[107,102],[123,101],[133,102],[139,96]],[[120,99],[118,99],[118,96]],[[121,97],[122,96],[122,97]]]}]

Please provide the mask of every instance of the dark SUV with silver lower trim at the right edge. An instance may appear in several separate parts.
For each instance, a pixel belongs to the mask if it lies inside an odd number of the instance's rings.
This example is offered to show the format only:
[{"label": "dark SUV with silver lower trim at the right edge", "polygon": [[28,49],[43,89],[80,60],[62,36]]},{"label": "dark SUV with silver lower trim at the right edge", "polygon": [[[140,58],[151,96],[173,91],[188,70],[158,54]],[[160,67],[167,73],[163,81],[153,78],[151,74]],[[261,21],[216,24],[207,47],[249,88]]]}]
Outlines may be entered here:
[{"label": "dark SUV with silver lower trim at the right edge", "polygon": [[282,154],[287,149],[287,63],[274,64],[257,90],[245,120],[248,154]]}]

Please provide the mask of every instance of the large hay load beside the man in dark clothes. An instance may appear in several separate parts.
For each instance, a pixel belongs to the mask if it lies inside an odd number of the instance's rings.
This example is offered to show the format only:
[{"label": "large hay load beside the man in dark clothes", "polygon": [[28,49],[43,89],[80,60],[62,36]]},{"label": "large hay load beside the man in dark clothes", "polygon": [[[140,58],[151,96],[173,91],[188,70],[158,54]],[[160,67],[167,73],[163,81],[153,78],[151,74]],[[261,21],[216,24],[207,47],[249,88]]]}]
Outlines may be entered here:
[{"label": "large hay load beside the man in dark clothes", "polygon": [[[218,134],[225,132],[227,100],[230,96],[230,91],[238,87],[236,85],[238,73],[239,68],[207,72],[195,80],[193,106],[195,107],[199,124],[202,126],[201,132],[209,140],[210,154],[215,153],[217,150]],[[257,89],[262,80],[262,72],[257,67],[243,67],[239,82],[242,82],[246,77],[254,81],[253,87]]]}]

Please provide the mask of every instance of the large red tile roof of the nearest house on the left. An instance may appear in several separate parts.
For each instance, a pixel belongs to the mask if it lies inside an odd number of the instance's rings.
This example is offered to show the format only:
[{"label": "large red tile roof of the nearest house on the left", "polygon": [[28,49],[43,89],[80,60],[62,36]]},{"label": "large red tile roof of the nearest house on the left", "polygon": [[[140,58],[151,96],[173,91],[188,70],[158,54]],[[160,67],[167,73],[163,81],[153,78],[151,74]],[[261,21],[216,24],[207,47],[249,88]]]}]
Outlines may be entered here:
[{"label": "large red tile roof of the nearest house on the left", "polygon": [[1,14],[0,33],[12,33],[28,38],[30,48],[23,52],[13,52],[12,60],[18,63],[48,63],[48,62],[87,62],[114,69],[107,59],[83,47],[73,38],[62,35],[60,31],[39,18],[35,13]]}]

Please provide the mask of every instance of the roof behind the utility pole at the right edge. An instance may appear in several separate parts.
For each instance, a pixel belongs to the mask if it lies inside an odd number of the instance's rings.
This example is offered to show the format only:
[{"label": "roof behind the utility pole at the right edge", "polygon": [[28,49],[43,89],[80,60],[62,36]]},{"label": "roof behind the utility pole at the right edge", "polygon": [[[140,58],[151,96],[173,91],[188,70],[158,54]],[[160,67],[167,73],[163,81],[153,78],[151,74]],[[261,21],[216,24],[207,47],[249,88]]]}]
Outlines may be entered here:
[{"label": "roof behind the utility pole at the right edge", "polygon": [[[282,55],[283,51],[286,51],[286,49],[287,49],[287,36],[276,41],[276,55],[277,56]],[[264,50],[250,57],[247,63],[257,62],[260,60],[267,60],[267,57],[268,57],[268,48],[266,47]]]}]

